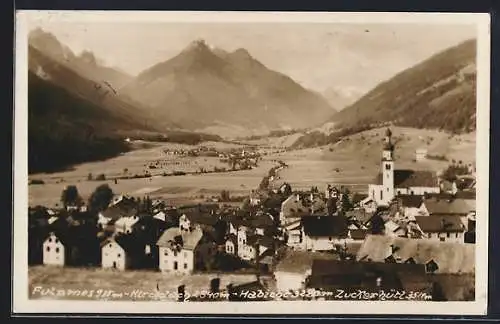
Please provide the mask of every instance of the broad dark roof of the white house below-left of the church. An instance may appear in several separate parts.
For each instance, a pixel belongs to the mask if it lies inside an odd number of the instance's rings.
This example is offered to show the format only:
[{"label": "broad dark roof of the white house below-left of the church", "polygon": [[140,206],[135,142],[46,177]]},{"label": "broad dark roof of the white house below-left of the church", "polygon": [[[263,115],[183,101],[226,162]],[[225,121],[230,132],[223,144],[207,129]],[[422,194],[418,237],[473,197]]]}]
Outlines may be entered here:
[{"label": "broad dark roof of the white house below-left of the church", "polygon": [[343,216],[302,217],[302,226],[307,236],[347,237],[348,223]]}]

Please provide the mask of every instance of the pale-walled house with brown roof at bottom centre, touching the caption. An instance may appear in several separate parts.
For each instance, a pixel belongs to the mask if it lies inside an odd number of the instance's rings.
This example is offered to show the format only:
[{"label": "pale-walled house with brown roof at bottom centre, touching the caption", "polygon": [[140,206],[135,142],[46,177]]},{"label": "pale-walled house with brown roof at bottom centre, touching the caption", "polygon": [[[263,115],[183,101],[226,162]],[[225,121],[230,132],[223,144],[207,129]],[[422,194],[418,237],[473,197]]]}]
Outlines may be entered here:
[{"label": "pale-walled house with brown roof at bottom centre, touching the caption", "polygon": [[274,270],[276,291],[288,292],[304,289],[306,278],[311,274],[314,259],[338,260],[339,258],[332,253],[286,250]]}]

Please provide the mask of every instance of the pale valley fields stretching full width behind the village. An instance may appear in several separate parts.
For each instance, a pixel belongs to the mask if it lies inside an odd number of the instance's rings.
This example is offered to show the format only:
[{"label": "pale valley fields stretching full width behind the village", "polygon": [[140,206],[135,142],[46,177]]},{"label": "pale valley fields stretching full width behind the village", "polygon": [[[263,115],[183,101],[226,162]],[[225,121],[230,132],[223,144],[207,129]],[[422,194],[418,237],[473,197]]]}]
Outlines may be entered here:
[{"label": "pale valley fields stretching full width behind the village", "polygon": [[[229,190],[231,195],[247,195],[255,189],[262,177],[275,165],[276,160],[283,160],[289,168],[280,171],[273,182],[279,186],[289,182],[294,190],[309,189],[317,186],[320,190],[327,184],[346,185],[351,190],[363,192],[380,170],[380,156],[384,129],[374,129],[349,136],[331,146],[288,150],[279,153],[278,144],[291,145],[290,136],[259,140],[261,151],[268,155],[252,170],[192,174],[184,176],[162,176],[163,172],[185,171],[195,172],[200,168],[213,170],[214,167],[228,167],[217,157],[179,157],[166,155],[165,149],[189,149],[194,146],[174,145],[169,143],[143,143],[143,148],[123,154],[122,156],[100,162],[85,163],[74,169],[53,173],[35,174],[31,179],[41,179],[44,185],[30,185],[30,205],[54,206],[59,203],[62,190],[69,184],[75,184],[83,198],[101,183],[108,183],[115,193],[131,195],[150,195],[161,197],[171,203],[200,201],[206,197],[218,196],[222,190]],[[295,135],[291,135],[295,136]],[[412,128],[393,128],[395,139],[396,168],[440,171],[452,160],[465,164],[475,163],[475,133],[453,136],[432,130]],[[214,146],[218,150],[238,147],[228,143],[203,143]],[[274,147],[274,148],[272,148]],[[415,150],[426,148],[429,155],[444,156],[445,160],[427,159],[416,162]],[[159,169],[148,169],[148,165],[161,162]],[[127,169],[125,172],[125,169]],[[143,174],[149,170],[151,178],[88,181],[89,173],[95,177],[104,173],[106,177],[123,176],[124,174]]]}]

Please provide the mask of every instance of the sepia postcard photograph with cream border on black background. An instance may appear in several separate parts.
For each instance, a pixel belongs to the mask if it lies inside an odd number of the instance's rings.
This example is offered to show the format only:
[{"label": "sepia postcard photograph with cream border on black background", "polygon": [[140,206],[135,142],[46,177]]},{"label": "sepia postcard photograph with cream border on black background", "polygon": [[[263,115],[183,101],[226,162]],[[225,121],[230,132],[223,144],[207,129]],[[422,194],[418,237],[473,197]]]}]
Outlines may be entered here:
[{"label": "sepia postcard photograph with cream border on black background", "polygon": [[14,312],[485,314],[489,24],[18,11]]}]

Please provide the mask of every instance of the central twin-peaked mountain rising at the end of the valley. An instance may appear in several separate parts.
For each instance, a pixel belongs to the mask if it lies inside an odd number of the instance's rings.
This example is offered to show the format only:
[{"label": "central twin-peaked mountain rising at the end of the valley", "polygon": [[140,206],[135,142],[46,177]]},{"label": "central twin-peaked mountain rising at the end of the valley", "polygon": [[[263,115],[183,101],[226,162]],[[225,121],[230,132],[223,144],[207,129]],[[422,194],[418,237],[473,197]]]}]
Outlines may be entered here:
[{"label": "central twin-peaked mountain rising at the end of the valley", "polygon": [[191,129],[217,123],[297,128],[335,112],[322,96],[268,69],[246,49],[228,52],[203,40],[145,69],[125,90],[159,118]]}]

